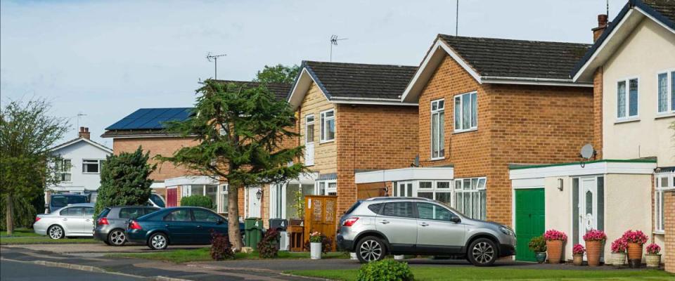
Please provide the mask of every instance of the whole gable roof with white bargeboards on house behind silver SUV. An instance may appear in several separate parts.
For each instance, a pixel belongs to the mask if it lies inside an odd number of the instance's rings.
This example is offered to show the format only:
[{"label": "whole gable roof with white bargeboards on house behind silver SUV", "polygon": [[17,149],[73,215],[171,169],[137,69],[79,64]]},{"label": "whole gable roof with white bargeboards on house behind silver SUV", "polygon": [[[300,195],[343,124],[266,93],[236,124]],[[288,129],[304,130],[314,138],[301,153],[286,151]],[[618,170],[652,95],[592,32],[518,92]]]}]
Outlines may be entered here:
[{"label": "whole gable roof with white bargeboards on house behind silver SUV", "polygon": [[573,84],[570,71],[590,48],[589,44],[457,37],[438,34],[415,77],[406,88],[404,101],[416,100],[427,81],[449,55],[479,84]]}]

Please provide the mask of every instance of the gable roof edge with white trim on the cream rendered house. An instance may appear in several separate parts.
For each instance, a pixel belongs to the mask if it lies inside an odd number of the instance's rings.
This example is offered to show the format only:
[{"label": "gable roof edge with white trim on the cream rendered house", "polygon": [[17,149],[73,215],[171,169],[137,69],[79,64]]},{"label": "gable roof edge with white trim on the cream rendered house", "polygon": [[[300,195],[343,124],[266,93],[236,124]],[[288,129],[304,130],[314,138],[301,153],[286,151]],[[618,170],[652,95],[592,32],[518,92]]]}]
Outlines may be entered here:
[{"label": "gable roof edge with white trim on the cream rendered house", "polygon": [[629,37],[644,18],[675,33],[675,0],[629,0],[571,72],[574,81],[591,81],[593,72]]}]

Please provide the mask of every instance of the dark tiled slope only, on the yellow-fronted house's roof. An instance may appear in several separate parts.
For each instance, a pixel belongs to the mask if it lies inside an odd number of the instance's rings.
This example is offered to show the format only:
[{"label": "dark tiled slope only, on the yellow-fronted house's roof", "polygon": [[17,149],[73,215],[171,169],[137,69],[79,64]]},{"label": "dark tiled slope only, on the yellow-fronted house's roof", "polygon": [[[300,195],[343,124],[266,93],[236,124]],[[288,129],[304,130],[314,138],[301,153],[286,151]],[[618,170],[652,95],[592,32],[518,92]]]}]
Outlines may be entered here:
[{"label": "dark tiled slope only, on the yellow-fronted house's roof", "polygon": [[302,62],[328,98],[399,99],[417,67],[364,63]]}]

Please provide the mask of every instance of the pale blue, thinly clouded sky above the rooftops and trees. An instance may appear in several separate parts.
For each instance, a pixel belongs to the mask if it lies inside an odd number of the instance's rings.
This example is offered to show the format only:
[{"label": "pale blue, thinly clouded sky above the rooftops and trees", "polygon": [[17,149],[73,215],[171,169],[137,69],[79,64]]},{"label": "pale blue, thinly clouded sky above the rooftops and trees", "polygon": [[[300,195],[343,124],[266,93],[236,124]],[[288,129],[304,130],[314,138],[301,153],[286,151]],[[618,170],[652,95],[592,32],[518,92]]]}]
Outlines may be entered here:
[{"label": "pale blue, thinly clouded sky above the rooftops and trees", "polygon": [[[459,0],[458,34],[592,43],[606,0]],[[610,0],[610,20],[626,0]],[[46,98],[51,114],[105,127],[139,108],[190,107],[198,82],[250,80],[264,65],[419,65],[454,34],[443,1],[0,1],[0,103]],[[84,116],[77,118],[78,114]]]}]

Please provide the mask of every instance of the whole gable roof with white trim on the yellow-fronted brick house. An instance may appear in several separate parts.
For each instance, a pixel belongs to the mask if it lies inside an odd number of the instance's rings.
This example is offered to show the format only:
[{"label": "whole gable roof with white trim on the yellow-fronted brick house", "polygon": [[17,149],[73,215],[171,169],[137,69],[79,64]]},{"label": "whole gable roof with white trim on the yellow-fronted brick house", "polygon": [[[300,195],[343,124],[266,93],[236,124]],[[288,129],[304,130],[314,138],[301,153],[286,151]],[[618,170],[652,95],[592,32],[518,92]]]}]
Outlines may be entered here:
[{"label": "whole gable roof with white trim on the yellow-fronted brick house", "polygon": [[[303,61],[288,103],[302,103],[313,82],[331,103],[404,105],[400,96],[417,67]],[[416,104],[405,104],[416,105]]]}]

